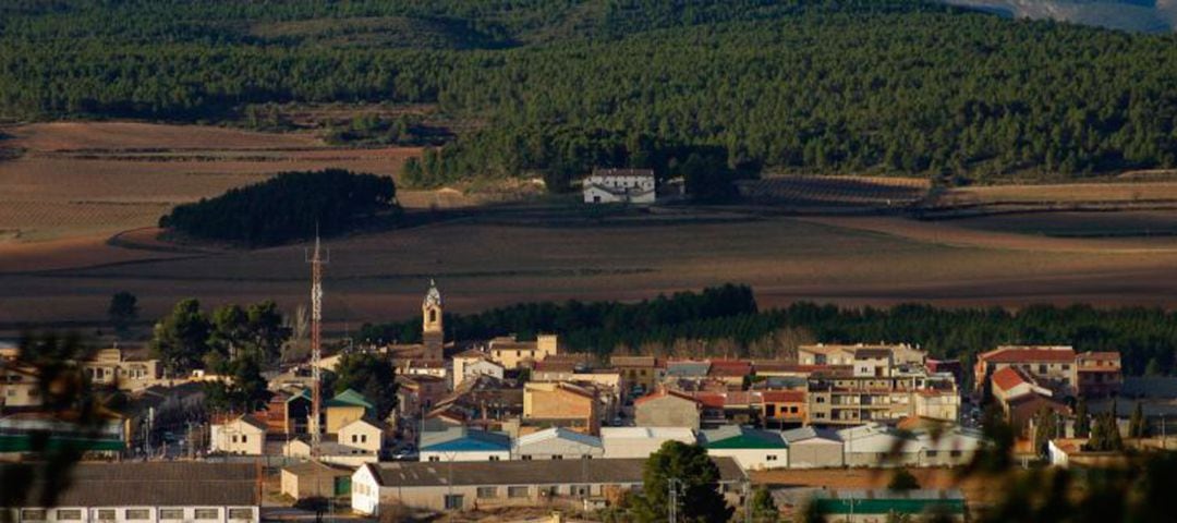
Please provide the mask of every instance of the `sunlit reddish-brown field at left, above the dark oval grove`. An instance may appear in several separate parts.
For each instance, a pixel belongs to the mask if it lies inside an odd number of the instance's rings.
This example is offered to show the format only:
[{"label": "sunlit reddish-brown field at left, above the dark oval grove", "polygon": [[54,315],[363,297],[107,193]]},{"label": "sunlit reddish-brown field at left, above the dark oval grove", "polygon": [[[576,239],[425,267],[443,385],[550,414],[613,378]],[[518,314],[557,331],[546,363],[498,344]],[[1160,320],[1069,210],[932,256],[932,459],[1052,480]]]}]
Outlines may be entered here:
[{"label": "sunlit reddish-brown field at left, above the dark oval grove", "polygon": [[[331,147],[310,133],[134,123],[54,123],[6,128],[0,161],[0,243],[113,234],[153,226],[171,206],[277,172],[343,167],[392,176],[408,147]],[[463,198],[406,192],[407,204]]]}]

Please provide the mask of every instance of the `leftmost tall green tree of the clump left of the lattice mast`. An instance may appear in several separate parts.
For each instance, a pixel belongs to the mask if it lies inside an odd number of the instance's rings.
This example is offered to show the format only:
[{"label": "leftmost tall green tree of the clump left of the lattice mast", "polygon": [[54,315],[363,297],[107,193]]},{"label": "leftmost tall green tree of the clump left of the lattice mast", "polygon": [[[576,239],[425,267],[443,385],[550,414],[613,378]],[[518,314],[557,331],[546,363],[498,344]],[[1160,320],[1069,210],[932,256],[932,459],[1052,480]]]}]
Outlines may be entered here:
[{"label": "leftmost tall green tree of the clump left of the lattice mast", "polygon": [[182,375],[201,365],[208,350],[211,324],[193,298],[175,304],[172,312],[155,323],[151,351],[171,376]]}]

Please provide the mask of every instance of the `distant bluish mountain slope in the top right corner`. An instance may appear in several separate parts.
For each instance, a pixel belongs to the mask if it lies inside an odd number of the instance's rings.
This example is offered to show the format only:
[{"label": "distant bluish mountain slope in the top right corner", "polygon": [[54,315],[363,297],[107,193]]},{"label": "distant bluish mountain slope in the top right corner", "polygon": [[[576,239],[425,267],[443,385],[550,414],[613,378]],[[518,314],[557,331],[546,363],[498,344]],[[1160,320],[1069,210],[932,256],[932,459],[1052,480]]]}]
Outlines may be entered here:
[{"label": "distant bluish mountain slope in the top right corner", "polygon": [[1177,31],[1177,0],[942,0],[1012,18],[1146,33]]}]

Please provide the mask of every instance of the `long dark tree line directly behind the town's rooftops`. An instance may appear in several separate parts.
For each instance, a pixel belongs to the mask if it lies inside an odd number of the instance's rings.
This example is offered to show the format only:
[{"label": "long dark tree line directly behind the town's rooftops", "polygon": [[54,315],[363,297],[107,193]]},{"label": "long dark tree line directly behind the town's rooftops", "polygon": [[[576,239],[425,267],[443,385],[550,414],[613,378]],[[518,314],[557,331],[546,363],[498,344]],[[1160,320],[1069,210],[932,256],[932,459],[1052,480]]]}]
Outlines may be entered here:
[{"label": "long dark tree line directly behind the town's rooftops", "polygon": [[[1073,345],[1077,351],[1117,351],[1125,372],[1173,372],[1177,355],[1177,312],[1158,307],[1096,309],[1033,305],[1018,311],[1000,307],[939,309],[907,304],[893,307],[843,309],[797,303],[758,310],[747,286],[725,285],[639,303],[563,304],[545,302],[493,309],[478,315],[450,315],[446,335],[453,339],[487,339],[518,333],[556,332],[568,347],[600,356],[617,347],[664,346],[676,340],[734,342],[745,350],[780,329],[809,332],[824,343],[912,343],[938,358],[971,360],[1003,344]],[[420,319],[365,325],[371,342],[417,342]]]}]

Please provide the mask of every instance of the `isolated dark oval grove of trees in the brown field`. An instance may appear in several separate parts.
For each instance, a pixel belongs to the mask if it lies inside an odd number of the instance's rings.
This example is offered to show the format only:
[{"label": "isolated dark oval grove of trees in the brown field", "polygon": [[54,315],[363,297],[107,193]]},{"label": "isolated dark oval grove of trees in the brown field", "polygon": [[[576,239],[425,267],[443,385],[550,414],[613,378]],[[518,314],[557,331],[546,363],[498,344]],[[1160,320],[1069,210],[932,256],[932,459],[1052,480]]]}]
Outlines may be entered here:
[{"label": "isolated dark oval grove of trees in the brown field", "polygon": [[307,238],[315,231],[344,233],[377,213],[398,208],[392,178],[328,168],[280,173],[179,205],[159,225],[197,238],[261,246]]}]

